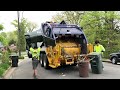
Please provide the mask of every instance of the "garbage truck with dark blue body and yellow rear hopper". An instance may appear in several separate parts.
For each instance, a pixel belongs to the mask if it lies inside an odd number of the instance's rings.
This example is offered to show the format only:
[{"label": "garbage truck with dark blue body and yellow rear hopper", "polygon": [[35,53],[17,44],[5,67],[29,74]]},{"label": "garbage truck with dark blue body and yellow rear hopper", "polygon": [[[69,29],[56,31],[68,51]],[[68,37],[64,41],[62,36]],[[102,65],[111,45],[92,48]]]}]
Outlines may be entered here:
[{"label": "garbage truck with dark blue body and yellow rear hopper", "polygon": [[40,64],[45,69],[63,65],[77,65],[80,54],[88,53],[88,42],[83,28],[75,24],[45,22],[39,30],[25,34],[29,58],[31,44],[41,47]]}]

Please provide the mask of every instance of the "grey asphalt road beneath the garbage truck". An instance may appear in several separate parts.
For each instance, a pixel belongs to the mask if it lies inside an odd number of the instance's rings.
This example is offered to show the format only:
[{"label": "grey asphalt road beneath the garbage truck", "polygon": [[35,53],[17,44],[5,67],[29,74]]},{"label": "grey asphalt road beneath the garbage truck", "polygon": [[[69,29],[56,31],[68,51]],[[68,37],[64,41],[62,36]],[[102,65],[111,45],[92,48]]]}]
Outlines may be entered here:
[{"label": "grey asphalt road beneath the garbage truck", "polygon": [[[78,66],[66,66],[56,69],[46,70],[38,66],[38,79],[120,79],[120,64],[103,62],[104,70],[102,74],[93,74],[89,67],[89,77],[80,77]],[[34,79],[32,61],[27,58],[15,68],[9,79]]]}]

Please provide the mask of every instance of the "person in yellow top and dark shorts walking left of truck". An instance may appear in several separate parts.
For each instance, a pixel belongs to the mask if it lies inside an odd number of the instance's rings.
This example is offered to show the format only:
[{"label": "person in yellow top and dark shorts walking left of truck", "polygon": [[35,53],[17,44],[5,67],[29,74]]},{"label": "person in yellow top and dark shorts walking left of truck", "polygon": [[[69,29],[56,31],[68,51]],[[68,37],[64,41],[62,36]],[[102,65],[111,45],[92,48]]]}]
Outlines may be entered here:
[{"label": "person in yellow top and dark shorts walking left of truck", "polygon": [[32,66],[33,66],[33,77],[36,78],[37,76],[37,66],[39,63],[39,54],[40,54],[40,47],[37,48],[35,44],[32,44],[32,47],[30,48],[30,52],[32,53]]}]

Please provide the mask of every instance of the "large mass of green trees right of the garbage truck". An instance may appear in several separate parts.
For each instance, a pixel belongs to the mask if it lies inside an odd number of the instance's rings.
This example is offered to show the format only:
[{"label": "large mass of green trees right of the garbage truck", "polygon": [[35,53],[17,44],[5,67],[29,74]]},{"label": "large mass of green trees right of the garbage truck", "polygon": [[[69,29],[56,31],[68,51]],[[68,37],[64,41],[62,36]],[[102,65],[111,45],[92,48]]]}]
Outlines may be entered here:
[{"label": "large mass of green trees right of the garbage truck", "polygon": [[100,40],[106,48],[105,55],[109,57],[111,52],[119,48],[119,15],[115,11],[89,11],[82,18],[81,25],[84,27],[88,41]]}]

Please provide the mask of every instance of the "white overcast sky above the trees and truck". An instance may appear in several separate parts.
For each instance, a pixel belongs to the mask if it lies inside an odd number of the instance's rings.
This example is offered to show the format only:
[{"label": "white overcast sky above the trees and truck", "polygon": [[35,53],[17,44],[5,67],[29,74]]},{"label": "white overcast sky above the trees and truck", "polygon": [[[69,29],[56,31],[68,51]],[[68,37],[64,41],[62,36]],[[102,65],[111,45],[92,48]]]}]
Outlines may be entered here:
[{"label": "white overcast sky above the trees and truck", "polygon": [[[22,11],[20,11],[22,16]],[[24,11],[23,17],[36,23],[39,27],[42,22],[50,21],[52,16],[61,11]],[[4,26],[4,32],[13,31],[15,27],[11,24],[17,19],[17,11],[0,11],[0,24]]]}]

